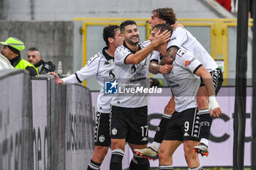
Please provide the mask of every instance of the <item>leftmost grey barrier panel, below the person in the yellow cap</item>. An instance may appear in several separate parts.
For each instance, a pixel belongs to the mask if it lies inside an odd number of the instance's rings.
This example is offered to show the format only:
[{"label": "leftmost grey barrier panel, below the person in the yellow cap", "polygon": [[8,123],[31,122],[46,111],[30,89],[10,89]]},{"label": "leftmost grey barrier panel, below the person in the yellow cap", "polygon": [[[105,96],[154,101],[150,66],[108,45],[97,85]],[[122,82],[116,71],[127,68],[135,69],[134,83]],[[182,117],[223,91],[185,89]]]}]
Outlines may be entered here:
[{"label": "leftmost grey barrier panel, below the person in the yellow cap", "polygon": [[0,169],[32,170],[31,84],[28,72],[0,72]]}]

